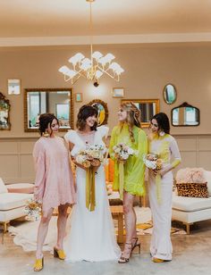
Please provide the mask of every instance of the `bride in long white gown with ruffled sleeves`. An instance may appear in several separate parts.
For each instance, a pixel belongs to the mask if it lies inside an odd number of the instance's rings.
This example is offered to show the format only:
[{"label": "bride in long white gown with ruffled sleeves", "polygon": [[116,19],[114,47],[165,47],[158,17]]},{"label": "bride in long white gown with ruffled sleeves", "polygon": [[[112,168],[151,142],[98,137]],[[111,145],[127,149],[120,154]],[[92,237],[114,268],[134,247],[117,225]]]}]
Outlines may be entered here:
[{"label": "bride in long white gown with ruffled sleeves", "polygon": [[[73,162],[76,164],[77,204],[72,209],[71,229],[64,241],[66,261],[99,262],[115,260],[119,257],[120,249],[116,244],[114,223],[109,209],[105,187],[105,170],[99,164],[94,176],[95,204],[89,207],[88,173],[76,160],[81,150],[89,145],[100,145],[105,148],[105,138],[108,128],[97,127],[97,109],[90,105],[80,108],[77,119],[77,129],[70,130],[65,135]],[[93,190],[93,189],[91,189]],[[90,196],[92,196],[90,194]]]}]

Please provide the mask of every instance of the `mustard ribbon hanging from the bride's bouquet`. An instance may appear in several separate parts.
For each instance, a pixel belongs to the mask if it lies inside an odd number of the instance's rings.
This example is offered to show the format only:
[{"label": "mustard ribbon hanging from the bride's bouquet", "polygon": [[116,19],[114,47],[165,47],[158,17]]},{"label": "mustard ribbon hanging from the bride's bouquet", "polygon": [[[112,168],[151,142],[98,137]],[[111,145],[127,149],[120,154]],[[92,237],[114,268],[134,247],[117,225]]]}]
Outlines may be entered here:
[{"label": "mustard ribbon hanging from the bride's bouquet", "polygon": [[86,207],[89,211],[94,211],[96,206],[96,190],[95,190],[95,171],[90,166],[86,171]]}]

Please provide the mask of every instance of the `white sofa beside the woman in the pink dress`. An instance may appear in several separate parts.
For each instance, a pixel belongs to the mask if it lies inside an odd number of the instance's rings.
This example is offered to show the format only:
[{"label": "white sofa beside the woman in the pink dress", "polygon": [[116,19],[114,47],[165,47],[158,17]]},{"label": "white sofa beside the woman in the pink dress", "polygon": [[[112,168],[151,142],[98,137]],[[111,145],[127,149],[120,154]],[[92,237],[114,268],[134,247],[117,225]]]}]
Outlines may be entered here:
[{"label": "white sofa beside the woman in the pink dress", "polygon": [[25,204],[31,197],[33,194],[9,193],[0,178],[0,223],[4,225],[4,232],[10,221],[26,215]]}]

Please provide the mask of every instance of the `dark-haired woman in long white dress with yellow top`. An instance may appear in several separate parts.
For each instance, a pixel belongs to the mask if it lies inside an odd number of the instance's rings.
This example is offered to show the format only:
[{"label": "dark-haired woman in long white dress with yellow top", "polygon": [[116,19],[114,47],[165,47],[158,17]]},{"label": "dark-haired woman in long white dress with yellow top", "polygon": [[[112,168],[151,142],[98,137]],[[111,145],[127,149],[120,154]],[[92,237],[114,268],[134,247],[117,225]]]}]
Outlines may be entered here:
[{"label": "dark-haired woman in long white dress with yellow top", "polygon": [[165,262],[172,260],[172,170],[181,162],[181,154],[176,140],[170,135],[169,119],[164,112],[154,115],[150,130],[148,153],[156,155],[162,163],[161,169],[149,170],[148,195],[153,218],[150,253],[153,262]]}]

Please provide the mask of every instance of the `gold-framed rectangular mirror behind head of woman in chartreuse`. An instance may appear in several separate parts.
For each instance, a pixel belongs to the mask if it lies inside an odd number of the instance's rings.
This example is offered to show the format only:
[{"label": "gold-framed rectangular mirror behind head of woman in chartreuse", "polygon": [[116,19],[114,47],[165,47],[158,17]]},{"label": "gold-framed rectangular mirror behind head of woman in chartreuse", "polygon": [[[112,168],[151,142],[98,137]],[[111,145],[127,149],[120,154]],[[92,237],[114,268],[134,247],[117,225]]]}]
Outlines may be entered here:
[{"label": "gold-framed rectangular mirror behind head of woman in chartreuse", "polygon": [[142,128],[148,128],[151,118],[160,111],[159,99],[122,99],[122,103],[132,102],[140,110]]}]

